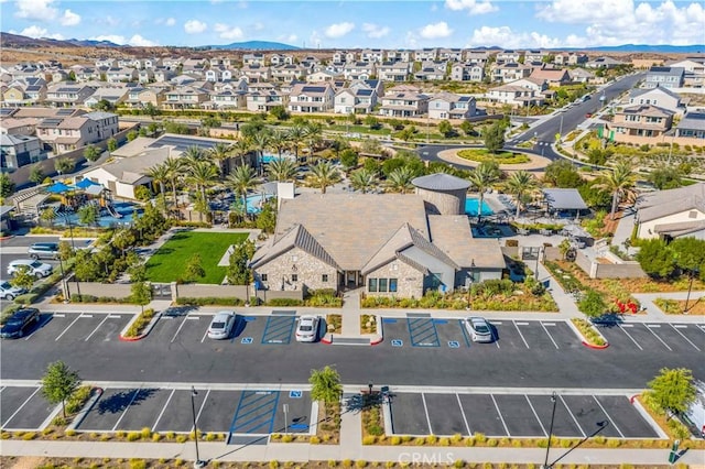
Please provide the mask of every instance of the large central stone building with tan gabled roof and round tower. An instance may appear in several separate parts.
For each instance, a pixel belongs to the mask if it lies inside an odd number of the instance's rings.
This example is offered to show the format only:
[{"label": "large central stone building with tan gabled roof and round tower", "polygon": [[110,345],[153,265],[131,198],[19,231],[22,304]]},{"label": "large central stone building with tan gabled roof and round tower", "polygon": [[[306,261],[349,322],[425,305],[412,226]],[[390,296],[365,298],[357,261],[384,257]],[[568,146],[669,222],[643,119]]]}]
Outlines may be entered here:
[{"label": "large central stone building with tan gabled roof and round tower", "polygon": [[[469,185],[437,174],[414,181],[425,178],[441,186],[435,194],[448,184]],[[417,190],[280,200],[275,232],[250,263],[256,281],[265,290],[362,287],[368,296],[419,298],[500,279],[506,264],[499,246],[473,238],[465,215],[435,215],[434,192]]]}]

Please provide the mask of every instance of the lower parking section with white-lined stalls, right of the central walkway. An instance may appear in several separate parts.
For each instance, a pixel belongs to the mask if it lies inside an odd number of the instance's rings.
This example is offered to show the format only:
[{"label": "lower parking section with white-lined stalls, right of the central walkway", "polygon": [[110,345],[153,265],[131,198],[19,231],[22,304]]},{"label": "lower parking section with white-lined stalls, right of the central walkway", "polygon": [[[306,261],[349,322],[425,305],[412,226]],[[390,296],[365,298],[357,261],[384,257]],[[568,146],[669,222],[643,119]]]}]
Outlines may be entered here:
[{"label": "lower parking section with white-lined stalls, right of the central walkway", "polygon": [[[397,435],[484,434],[488,437],[545,438],[552,396],[547,394],[394,393],[389,412]],[[557,395],[553,435],[584,438],[604,426],[610,438],[658,438],[627,395]]]}]

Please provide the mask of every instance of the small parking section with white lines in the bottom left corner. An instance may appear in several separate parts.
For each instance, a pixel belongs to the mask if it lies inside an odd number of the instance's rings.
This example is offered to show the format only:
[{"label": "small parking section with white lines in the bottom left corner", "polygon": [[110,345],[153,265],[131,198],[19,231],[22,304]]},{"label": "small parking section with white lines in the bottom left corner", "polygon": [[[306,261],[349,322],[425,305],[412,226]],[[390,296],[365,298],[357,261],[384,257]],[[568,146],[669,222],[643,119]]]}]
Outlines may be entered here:
[{"label": "small parking section with white lines in the bottom left corner", "polygon": [[6,430],[41,430],[61,411],[46,402],[40,386],[0,388],[0,426]]}]

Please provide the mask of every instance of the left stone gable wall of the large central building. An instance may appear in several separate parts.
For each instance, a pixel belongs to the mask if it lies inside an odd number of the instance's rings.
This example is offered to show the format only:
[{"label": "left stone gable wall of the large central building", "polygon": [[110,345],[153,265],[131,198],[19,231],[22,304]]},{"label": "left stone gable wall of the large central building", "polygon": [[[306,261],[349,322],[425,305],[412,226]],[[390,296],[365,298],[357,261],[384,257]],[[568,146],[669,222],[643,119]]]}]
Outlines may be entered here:
[{"label": "left stone gable wall of the large central building", "polygon": [[[262,281],[263,274],[267,275],[267,281]],[[295,282],[293,275],[297,277]],[[327,282],[323,281],[323,275],[328,276]],[[337,270],[299,248],[259,266],[254,279],[269,291],[338,290]]]}]

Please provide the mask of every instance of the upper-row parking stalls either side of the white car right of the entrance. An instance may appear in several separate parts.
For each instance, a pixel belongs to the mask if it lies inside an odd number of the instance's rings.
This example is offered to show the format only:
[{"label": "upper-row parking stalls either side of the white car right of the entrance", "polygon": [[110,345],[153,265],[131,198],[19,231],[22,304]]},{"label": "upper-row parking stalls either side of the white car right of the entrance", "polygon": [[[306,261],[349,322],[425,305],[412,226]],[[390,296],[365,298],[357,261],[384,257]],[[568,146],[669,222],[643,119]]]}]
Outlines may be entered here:
[{"label": "upper-row parking stalls either side of the white car right of the entrance", "polygon": [[[564,320],[490,320],[495,340],[489,348],[561,350],[582,347],[571,326]],[[475,348],[463,319],[438,319],[427,314],[408,314],[405,319],[382,318],[387,347]]]}]

